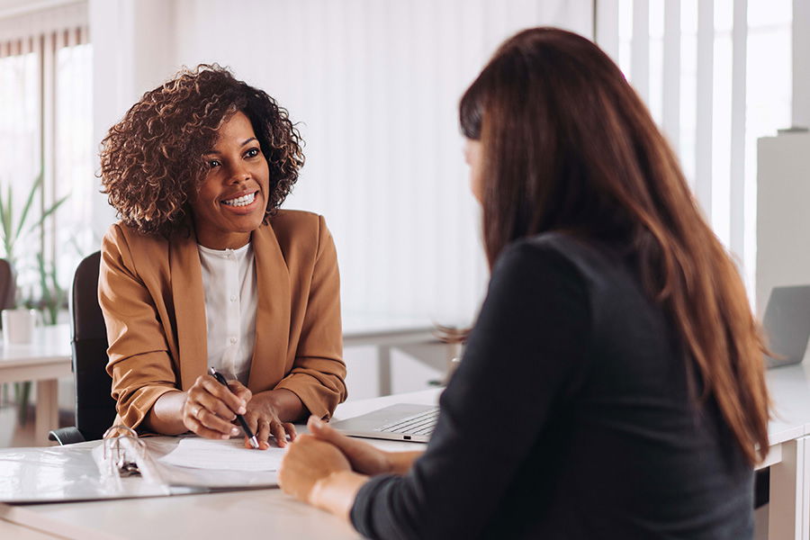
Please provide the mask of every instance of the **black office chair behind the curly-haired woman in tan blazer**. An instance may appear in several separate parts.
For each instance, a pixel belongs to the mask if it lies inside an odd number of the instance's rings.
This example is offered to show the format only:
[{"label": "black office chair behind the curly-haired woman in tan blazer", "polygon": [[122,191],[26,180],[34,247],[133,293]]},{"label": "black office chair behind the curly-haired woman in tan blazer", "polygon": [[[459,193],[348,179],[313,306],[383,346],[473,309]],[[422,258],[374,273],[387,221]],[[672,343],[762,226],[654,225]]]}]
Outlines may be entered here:
[{"label": "black office chair behind the curly-haired woman in tan blazer", "polygon": [[98,267],[101,252],[85,257],[76,267],[70,292],[70,345],[76,384],[76,426],[50,431],[60,445],[103,437],[115,419],[112,379],[107,374],[107,330],[98,305]]}]

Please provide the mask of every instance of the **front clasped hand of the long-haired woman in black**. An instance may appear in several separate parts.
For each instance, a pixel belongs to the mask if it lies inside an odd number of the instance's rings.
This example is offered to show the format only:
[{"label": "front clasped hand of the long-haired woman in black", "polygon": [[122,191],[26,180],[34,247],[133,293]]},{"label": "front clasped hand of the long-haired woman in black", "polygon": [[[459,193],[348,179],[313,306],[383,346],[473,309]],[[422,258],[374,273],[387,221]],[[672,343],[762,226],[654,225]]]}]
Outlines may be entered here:
[{"label": "front clasped hand of the long-haired woman in black", "polygon": [[302,435],[284,453],[278,485],[284,493],[323,508],[316,493],[318,482],[336,473],[351,473],[351,470],[351,464],[336,446],[311,435]]}]

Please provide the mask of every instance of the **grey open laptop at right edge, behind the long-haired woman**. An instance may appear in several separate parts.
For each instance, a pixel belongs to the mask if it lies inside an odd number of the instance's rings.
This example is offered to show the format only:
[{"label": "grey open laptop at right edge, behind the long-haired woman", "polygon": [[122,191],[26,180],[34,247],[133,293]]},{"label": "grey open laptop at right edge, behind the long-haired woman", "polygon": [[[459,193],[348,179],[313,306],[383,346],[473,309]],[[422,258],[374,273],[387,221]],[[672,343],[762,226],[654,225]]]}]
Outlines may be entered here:
[{"label": "grey open laptop at right edge, behind the long-haired woman", "polygon": [[810,285],[774,287],[762,319],[768,348],[769,369],[798,364],[810,340]]}]

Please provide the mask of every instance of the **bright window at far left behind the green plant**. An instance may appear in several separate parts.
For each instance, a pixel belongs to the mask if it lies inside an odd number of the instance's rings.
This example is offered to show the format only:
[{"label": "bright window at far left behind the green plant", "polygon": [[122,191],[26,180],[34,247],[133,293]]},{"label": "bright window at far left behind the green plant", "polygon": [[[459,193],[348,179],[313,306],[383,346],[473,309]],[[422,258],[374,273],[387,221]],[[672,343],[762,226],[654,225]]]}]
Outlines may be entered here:
[{"label": "bright window at far left behind the green plant", "polygon": [[[43,290],[43,271],[57,272],[56,283],[66,288],[78,260],[98,243],[87,238],[85,223],[88,195],[98,184],[92,168],[92,46],[85,19],[85,4],[71,4],[0,21],[0,198],[7,201],[11,193],[6,218],[12,237],[41,178],[14,252],[2,254],[13,259],[24,302],[55,293],[50,277],[44,282],[48,291]],[[33,227],[65,196],[45,227]]]}]

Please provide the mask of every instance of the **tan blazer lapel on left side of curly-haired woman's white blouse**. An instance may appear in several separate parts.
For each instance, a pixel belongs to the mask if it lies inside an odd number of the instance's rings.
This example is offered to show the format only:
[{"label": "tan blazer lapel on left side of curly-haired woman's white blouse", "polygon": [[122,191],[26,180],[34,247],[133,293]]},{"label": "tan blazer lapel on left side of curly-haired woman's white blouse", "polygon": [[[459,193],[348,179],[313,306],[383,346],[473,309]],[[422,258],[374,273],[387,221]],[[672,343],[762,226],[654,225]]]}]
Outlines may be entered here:
[{"label": "tan blazer lapel on left side of curly-haired woman's white blouse", "polygon": [[205,298],[202,267],[193,233],[175,233],[169,244],[172,299],[177,323],[180,383],[188,390],[208,365],[208,330],[205,326]]}]

